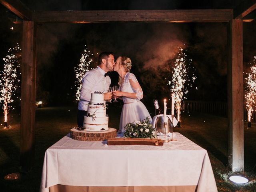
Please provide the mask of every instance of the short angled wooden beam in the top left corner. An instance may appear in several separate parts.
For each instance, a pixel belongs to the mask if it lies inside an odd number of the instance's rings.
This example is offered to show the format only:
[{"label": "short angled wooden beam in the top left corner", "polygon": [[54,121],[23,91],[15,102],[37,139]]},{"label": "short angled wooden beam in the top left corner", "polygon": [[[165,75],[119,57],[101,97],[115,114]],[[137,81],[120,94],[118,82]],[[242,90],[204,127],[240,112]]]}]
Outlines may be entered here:
[{"label": "short angled wooden beam in the top left corner", "polygon": [[31,20],[32,11],[20,0],[0,0],[0,3],[23,20]]}]

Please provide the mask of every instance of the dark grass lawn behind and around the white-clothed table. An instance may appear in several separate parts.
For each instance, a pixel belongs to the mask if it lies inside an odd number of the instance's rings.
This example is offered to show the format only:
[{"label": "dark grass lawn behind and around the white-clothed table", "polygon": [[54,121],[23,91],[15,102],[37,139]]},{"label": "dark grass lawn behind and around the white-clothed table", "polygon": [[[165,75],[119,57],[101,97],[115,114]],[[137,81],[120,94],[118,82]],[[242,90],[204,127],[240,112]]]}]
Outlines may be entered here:
[{"label": "dark grass lawn behind and around the white-clothed table", "polygon": [[[119,102],[110,104],[107,112],[110,127],[118,128],[121,110]],[[4,176],[19,171],[20,115],[9,114],[8,124],[11,128],[0,128],[0,191],[39,191],[44,153],[52,144],[68,134],[70,128],[76,126],[76,114],[76,106],[36,109],[35,163],[30,172],[20,180],[13,181],[4,180]],[[246,123],[244,124],[245,172],[242,174],[246,175],[250,182],[237,186],[228,180],[231,171],[226,166],[228,160],[227,118],[184,112],[181,120],[182,127],[175,128],[174,131],[180,132],[208,151],[219,192],[256,191],[256,168],[254,168],[256,164],[256,124],[252,123],[252,128],[249,129],[246,128]]]}]

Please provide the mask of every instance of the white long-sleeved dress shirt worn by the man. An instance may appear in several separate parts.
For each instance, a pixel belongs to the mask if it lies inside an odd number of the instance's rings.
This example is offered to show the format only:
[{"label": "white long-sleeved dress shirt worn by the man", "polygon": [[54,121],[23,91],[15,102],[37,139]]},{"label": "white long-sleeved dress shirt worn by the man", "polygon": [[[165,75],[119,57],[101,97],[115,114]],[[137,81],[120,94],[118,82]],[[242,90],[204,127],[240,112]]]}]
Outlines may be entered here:
[{"label": "white long-sleeved dress shirt worn by the man", "polygon": [[87,104],[91,100],[91,94],[95,91],[103,93],[108,92],[111,80],[109,76],[104,77],[105,73],[106,72],[98,66],[84,74],[80,90],[80,101],[78,102],[79,110],[87,111]]}]

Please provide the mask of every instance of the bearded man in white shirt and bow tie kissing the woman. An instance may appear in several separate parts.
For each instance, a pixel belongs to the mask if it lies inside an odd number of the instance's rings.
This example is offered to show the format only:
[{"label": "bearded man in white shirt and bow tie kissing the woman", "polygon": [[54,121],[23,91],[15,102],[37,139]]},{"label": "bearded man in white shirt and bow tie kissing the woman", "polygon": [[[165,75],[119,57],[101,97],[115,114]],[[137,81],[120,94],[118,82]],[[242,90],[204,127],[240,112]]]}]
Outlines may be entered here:
[{"label": "bearded man in white shirt and bow tie kissing the woman", "polygon": [[84,124],[84,115],[87,114],[87,104],[90,102],[91,93],[100,91],[104,93],[104,100],[112,98],[112,92],[108,92],[111,80],[107,72],[113,71],[113,68],[114,54],[112,52],[102,52],[98,57],[98,67],[84,74],[80,90],[80,101],[78,102],[78,127],[82,127]]}]

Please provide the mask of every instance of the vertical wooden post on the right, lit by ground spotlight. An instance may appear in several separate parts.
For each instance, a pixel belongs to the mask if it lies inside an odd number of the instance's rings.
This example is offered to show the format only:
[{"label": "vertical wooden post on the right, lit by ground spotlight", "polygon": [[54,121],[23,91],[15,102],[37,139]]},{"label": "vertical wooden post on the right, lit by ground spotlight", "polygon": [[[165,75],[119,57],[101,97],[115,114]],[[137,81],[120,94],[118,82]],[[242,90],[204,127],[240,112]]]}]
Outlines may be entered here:
[{"label": "vertical wooden post on the right, lit by ground spotlight", "polygon": [[232,171],[243,171],[244,92],[242,20],[230,20],[228,30],[228,165],[232,168]]}]

